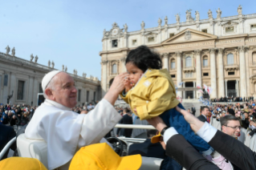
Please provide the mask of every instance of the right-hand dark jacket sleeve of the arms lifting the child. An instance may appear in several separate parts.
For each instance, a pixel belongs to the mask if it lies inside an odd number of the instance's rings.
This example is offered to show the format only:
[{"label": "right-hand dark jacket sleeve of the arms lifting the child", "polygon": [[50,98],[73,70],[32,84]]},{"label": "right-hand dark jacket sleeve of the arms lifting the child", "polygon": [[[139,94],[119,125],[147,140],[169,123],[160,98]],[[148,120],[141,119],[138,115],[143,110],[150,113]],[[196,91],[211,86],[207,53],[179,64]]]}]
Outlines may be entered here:
[{"label": "right-hand dark jacket sleeve of the arms lifting the child", "polygon": [[217,131],[209,145],[231,163],[244,170],[256,169],[256,154],[239,140]]}]

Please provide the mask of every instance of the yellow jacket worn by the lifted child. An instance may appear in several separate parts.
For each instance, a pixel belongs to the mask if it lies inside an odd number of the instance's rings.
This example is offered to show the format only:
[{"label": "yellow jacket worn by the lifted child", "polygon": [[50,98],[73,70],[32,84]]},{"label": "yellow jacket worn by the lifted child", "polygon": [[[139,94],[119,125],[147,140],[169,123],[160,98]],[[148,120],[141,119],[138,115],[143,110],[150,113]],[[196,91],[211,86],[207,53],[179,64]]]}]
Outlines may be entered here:
[{"label": "yellow jacket worn by the lifted child", "polygon": [[176,99],[173,80],[166,69],[148,69],[135,87],[126,95],[121,94],[121,97],[130,105],[132,111],[136,108],[135,114],[140,119],[156,117],[180,103]]}]

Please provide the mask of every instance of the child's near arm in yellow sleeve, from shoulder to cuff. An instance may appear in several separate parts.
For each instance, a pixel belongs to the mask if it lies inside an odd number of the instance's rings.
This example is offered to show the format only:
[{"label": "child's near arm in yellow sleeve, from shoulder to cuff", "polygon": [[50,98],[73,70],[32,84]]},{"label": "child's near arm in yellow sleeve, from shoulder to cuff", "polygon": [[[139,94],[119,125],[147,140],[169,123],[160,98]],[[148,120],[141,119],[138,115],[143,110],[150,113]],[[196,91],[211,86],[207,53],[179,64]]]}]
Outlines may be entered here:
[{"label": "child's near arm in yellow sleeve, from shoulder to cuff", "polygon": [[140,119],[151,119],[161,115],[168,108],[176,107],[180,103],[176,99],[175,87],[171,86],[168,79],[157,78],[149,88],[148,103],[136,107]]}]

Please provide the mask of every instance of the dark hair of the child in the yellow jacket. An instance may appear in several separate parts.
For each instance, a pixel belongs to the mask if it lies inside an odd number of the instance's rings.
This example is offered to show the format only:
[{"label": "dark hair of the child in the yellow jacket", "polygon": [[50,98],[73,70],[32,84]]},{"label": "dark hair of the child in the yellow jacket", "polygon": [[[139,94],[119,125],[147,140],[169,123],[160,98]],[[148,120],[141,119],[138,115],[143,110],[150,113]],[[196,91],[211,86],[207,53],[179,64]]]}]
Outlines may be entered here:
[{"label": "dark hair of the child in the yellow jacket", "polygon": [[160,55],[151,51],[146,46],[140,46],[129,52],[125,64],[132,63],[141,71],[147,71],[148,68],[160,70],[162,68],[162,60]]}]

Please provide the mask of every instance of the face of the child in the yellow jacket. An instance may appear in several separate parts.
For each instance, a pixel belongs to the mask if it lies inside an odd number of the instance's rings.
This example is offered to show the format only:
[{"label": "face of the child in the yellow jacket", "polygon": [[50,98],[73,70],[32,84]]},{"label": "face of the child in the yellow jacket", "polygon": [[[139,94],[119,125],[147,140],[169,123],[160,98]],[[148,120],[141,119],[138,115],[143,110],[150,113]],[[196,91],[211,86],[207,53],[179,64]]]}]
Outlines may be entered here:
[{"label": "face of the child in the yellow jacket", "polygon": [[144,72],[141,71],[140,68],[136,67],[133,63],[126,63],[125,67],[128,71],[129,80],[133,87],[139,81],[141,75],[143,75]]}]

